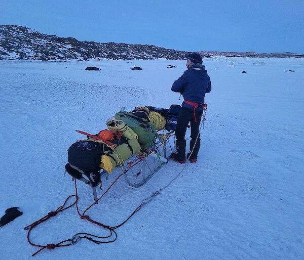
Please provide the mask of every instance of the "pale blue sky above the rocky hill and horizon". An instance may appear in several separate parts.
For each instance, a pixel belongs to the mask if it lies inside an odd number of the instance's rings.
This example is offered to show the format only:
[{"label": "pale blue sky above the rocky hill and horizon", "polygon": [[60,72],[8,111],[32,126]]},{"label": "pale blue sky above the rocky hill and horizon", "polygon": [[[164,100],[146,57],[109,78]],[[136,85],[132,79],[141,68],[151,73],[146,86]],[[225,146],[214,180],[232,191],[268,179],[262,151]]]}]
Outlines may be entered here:
[{"label": "pale blue sky above the rocky hill and horizon", "polygon": [[184,51],[304,54],[304,0],[1,0],[0,24]]}]

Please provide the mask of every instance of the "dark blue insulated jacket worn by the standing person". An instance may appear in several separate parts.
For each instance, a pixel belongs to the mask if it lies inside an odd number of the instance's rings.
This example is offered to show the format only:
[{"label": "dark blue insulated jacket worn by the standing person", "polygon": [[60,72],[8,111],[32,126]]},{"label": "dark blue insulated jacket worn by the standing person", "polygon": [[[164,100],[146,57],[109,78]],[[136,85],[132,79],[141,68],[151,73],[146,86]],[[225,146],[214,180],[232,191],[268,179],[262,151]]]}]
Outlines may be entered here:
[{"label": "dark blue insulated jacket worn by the standing person", "polygon": [[[194,64],[188,68],[177,80],[171,90],[179,92],[184,100],[205,104],[205,94],[211,91],[210,77],[202,64]],[[193,109],[193,106],[182,103],[182,107]]]}]

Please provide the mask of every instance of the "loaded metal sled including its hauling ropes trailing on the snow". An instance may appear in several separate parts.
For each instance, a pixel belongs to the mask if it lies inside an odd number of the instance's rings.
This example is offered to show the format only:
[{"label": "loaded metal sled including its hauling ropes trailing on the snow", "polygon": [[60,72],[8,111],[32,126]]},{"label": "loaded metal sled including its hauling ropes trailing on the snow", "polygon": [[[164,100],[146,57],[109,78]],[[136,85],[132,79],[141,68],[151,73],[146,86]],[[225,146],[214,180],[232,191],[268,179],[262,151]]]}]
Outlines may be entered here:
[{"label": "loaded metal sled including its hauling ropes trailing on the snow", "polygon": [[[204,105],[202,122],[205,120],[206,108],[207,105]],[[79,140],[69,147],[68,163],[65,165],[66,172],[72,176],[74,181],[75,193],[68,196],[64,203],[55,211],[49,212],[40,220],[24,228],[28,230],[28,243],[40,248],[32,256],[44,249],[55,249],[56,247],[73,245],[83,238],[96,244],[116,241],[116,230],[124,225],[144,205],[160,194],[162,190],[168,187],[182,171],[165,187],[158,189],[152,195],[143,199],[128,218],[119,225],[104,225],[101,222],[93,220],[88,215],[88,211],[105,196],[121,177],[124,176],[129,186],[137,188],[145,184],[167,162],[167,148],[170,148],[170,152],[173,152],[170,138],[174,135],[180,109],[181,107],[178,105],[172,105],[169,109],[136,107],[130,112],[120,111],[116,113],[114,117],[107,120],[107,129],[100,131],[96,135],[77,131],[80,134],[86,135],[87,139]],[[116,175],[117,177],[108,185],[102,195],[97,198],[96,187],[100,185],[101,189],[103,181],[110,179],[109,175]],[[77,180],[93,188],[94,202],[83,212],[81,212],[79,207]],[[70,202],[71,199],[74,199],[74,201]],[[70,204],[67,205],[69,202]],[[82,220],[103,228],[108,232],[108,235],[101,236],[79,232],[73,237],[57,243],[41,245],[31,241],[30,233],[36,226],[74,205]]]}]

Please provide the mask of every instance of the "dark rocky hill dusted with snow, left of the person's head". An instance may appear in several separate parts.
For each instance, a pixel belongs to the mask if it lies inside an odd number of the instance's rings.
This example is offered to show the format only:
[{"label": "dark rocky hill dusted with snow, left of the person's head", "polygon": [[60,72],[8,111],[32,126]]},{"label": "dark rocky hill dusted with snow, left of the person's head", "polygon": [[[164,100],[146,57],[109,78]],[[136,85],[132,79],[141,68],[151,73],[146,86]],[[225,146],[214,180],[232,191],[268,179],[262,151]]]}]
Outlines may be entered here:
[{"label": "dark rocky hill dusted with snow, left of the person's head", "polygon": [[0,60],[183,59],[187,52],[153,45],[80,41],[43,34],[27,27],[0,25]]}]

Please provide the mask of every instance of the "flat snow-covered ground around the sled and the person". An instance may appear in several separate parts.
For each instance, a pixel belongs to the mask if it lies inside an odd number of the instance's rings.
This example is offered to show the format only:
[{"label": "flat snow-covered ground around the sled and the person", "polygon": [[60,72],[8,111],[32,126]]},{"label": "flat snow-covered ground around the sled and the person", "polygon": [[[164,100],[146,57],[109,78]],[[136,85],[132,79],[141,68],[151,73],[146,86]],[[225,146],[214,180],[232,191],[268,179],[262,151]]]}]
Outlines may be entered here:
[{"label": "flat snow-covered ground around the sled and the person", "polygon": [[[81,240],[35,258],[304,258],[304,60],[211,58],[204,64],[212,91],[198,163],[186,165],[118,229],[115,243]],[[85,71],[88,66],[101,70]],[[143,70],[130,70],[136,66]],[[184,70],[185,61],[163,59],[0,62],[0,215],[13,206],[23,211],[0,229],[0,259],[30,259],[36,248],[23,227],[73,194],[63,174],[69,145],[83,138],[75,129],[97,133],[122,106],[180,104],[170,89]],[[90,216],[121,223],[181,170],[169,161],[138,189],[120,180]],[[85,208],[91,189],[80,190]],[[80,231],[107,234],[71,208],[35,228],[31,238],[57,243]]]}]

